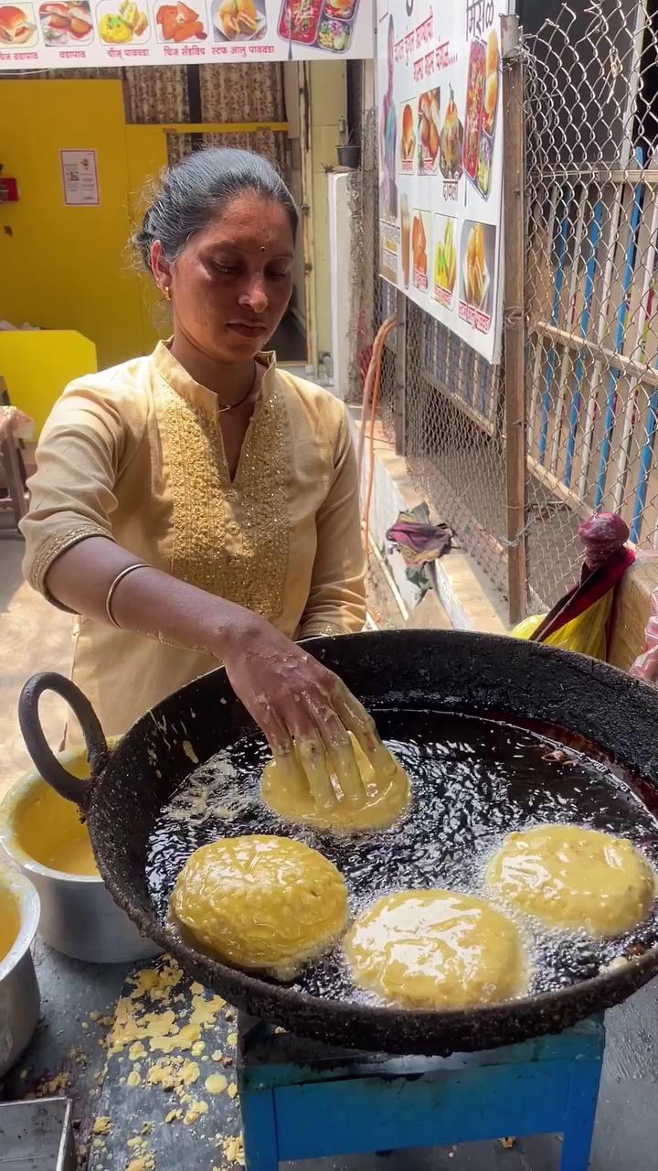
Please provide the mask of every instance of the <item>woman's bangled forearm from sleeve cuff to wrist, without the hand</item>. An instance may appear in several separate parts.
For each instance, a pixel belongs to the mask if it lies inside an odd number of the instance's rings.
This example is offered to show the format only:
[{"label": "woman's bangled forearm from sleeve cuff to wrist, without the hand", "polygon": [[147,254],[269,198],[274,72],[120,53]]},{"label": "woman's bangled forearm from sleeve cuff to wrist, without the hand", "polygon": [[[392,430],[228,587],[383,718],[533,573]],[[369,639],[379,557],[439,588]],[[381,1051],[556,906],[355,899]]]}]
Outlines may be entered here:
[{"label": "woman's bangled forearm from sleeve cuff to wrist, without the hand", "polygon": [[[114,541],[89,537],[53,562],[48,591],[76,614],[108,622],[108,591],[117,575],[138,560]],[[206,650],[220,659],[261,623],[244,607],[152,568],[138,569],[118,583],[111,612],[124,630]]]}]

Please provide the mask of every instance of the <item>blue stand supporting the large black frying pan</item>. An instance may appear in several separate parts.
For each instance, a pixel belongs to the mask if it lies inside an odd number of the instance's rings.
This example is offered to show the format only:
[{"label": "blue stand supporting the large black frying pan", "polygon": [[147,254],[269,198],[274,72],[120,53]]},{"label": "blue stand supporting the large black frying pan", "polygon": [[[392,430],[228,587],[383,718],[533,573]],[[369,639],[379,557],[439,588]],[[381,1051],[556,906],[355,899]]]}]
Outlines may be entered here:
[{"label": "blue stand supporting the large black frying pan", "polygon": [[389,1057],[330,1049],[241,1016],[247,1169],[563,1132],[561,1171],[587,1171],[604,1045],[601,1015],[501,1049]]}]

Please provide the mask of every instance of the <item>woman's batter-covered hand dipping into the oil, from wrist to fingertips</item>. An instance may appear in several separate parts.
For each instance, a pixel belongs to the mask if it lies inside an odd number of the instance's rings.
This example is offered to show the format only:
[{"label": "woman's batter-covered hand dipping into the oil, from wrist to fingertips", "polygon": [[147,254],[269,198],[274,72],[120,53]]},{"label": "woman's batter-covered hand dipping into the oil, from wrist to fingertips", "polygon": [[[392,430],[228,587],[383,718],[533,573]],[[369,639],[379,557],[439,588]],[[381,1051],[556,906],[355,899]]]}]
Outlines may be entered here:
[{"label": "woman's batter-covered hand dipping into the oil, from wrist to fingertips", "polygon": [[224,656],[235,694],[265,732],[277,761],[295,753],[318,808],[336,802],[331,775],[347,801],[362,803],[363,781],[348,733],[358,740],[382,783],[396,768],[372,717],[333,671],[269,623],[249,617],[253,621]]}]

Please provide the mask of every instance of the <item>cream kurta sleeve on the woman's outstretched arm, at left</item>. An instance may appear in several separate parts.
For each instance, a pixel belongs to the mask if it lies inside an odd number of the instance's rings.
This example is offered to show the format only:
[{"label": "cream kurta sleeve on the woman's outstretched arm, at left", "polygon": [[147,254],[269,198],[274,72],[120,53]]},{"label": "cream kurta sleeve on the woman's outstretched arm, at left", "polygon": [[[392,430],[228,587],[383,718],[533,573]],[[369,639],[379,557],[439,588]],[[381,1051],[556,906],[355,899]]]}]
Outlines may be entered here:
[{"label": "cream kurta sleeve on the woman's outstretched arm, at left", "polygon": [[28,484],[29,511],[21,522],[25,577],[55,605],[60,603],[46,588],[55,559],[89,536],[111,537],[114,488],[124,447],[121,395],[71,384],[42,431],[36,472]]}]

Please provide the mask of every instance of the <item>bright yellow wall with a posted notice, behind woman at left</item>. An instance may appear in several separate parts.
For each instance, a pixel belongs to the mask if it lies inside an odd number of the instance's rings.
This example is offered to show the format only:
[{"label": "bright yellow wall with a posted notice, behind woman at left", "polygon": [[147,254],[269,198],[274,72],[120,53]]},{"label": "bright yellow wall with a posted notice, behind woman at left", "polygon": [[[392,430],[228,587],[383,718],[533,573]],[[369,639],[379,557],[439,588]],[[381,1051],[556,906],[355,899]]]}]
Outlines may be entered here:
[{"label": "bright yellow wall with a posted notice, behind woman at left", "polygon": [[[64,205],[62,149],[97,151],[98,207]],[[119,81],[2,81],[0,160],[21,198],[0,205],[0,316],[78,330],[101,368],[149,352],[157,331],[130,205],[165,152],[162,131],[125,125]]]}]

